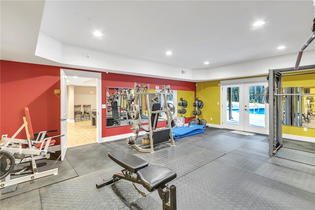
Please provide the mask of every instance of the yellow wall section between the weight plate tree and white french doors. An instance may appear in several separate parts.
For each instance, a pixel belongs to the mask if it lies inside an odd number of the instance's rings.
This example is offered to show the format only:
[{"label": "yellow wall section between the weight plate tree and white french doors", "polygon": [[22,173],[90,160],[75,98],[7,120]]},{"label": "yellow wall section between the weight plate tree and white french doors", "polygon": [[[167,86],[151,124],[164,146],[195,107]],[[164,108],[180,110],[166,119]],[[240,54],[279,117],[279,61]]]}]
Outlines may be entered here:
[{"label": "yellow wall section between the weight plate tree and white french doors", "polygon": [[[221,124],[221,92],[220,81],[197,82],[197,97],[204,104],[199,118],[207,120],[210,124]],[[219,102],[219,105],[218,105]],[[212,120],[210,118],[212,117]]]}]

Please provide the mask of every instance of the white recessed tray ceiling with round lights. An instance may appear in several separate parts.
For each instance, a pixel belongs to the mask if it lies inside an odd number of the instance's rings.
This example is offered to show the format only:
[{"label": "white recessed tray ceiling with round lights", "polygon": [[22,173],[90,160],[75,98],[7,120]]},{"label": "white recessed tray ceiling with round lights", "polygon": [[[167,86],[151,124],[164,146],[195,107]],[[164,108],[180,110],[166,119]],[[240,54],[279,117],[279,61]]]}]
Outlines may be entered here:
[{"label": "white recessed tray ceiling with round lights", "polygon": [[[297,52],[314,11],[312,0],[46,1],[40,31],[81,47],[208,68]],[[253,27],[258,20],[266,24]]]}]

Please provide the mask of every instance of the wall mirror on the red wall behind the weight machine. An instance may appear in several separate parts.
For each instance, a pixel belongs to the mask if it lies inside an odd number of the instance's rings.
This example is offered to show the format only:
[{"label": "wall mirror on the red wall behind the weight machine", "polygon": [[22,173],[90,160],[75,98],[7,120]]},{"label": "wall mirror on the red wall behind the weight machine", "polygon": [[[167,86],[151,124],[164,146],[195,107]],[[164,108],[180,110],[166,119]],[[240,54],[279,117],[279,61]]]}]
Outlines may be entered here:
[{"label": "wall mirror on the red wall behind the weight machine", "polygon": [[[152,92],[159,92],[159,90],[150,90]],[[121,87],[107,87],[106,88],[106,127],[116,127],[116,126],[126,126],[132,125],[134,120],[131,119],[129,110],[130,110],[130,99],[128,96],[133,93],[133,88],[121,88]],[[141,123],[148,122],[148,113],[146,112],[146,108],[143,108],[144,97],[139,97],[139,108],[141,115]],[[163,103],[163,99],[161,103]],[[175,101],[175,102],[174,102]],[[171,91],[171,95],[169,96],[167,102],[176,104],[176,91]],[[177,111],[177,110],[176,110]],[[175,111],[175,114],[177,113]],[[159,116],[159,121],[166,120],[165,114],[162,113]],[[138,120],[136,120],[138,123]]]}]

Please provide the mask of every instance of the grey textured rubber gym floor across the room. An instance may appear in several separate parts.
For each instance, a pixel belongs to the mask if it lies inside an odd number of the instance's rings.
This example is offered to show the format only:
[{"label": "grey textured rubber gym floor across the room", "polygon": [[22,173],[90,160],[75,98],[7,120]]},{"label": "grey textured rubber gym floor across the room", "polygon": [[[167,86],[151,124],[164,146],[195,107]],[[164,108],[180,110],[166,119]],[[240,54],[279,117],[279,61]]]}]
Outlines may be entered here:
[{"label": "grey textured rubber gym floor across the room", "polygon": [[[281,158],[269,157],[266,136],[215,128],[175,144],[163,144],[153,154],[140,153],[125,140],[68,148],[65,161],[55,164],[59,175],[19,184],[16,192],[1,195],[0,209],[162,209],[157,192],[142,197],[125,180],[95,188],[122,169],[107,152],[123,150],[176,171],[171,184],[177,187],[179,210],[314,210],[314,153],[292,155],[285,148]],[[307,147],[314,150],[315,144]]]}]

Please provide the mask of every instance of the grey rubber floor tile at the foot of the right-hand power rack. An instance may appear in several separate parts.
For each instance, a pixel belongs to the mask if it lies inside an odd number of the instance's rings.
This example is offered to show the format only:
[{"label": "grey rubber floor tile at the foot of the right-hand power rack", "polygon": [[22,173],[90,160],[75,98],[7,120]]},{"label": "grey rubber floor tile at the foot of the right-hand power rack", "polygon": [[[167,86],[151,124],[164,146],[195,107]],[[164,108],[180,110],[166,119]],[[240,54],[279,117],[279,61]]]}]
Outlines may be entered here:
[{"label": "grey rubber floor tile at the foot of the right-hand power rack", "polygon": [[315,166],[315,153],[313,152],[306,152],[283,147],[278,150],[275,156]]}]

